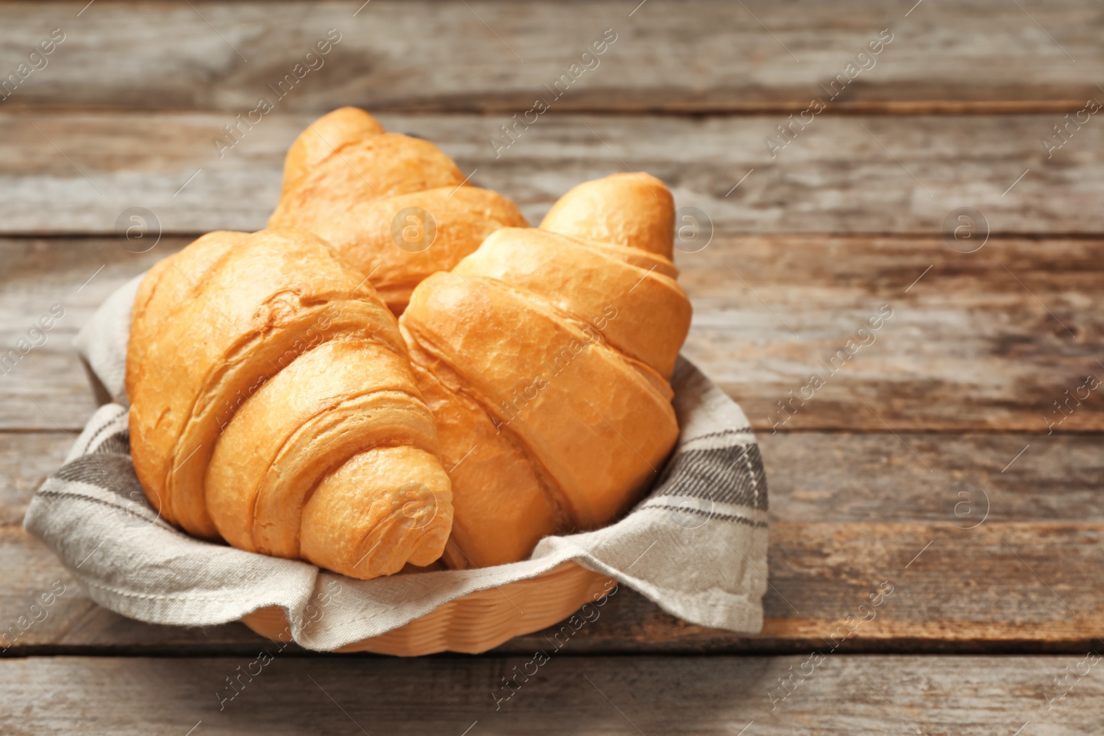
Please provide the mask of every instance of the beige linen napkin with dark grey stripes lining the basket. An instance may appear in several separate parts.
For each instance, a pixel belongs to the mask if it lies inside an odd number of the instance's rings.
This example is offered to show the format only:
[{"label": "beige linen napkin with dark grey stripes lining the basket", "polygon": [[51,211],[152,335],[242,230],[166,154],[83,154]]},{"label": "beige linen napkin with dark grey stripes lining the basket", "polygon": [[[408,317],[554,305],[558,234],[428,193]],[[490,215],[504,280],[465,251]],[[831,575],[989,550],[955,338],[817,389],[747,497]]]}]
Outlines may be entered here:
[{"label": "beige linen napkin with dark grey stripes lining the basket", "polygon": [[297,643],[328,651],[474,590],[573,561],[691,623],[762,629],[763,461],[740,407],[682,358],[672,381],[681,434],[648,495],[609,526],[545,537],[529,559],[354,580],[189,536],[158,518],[130,460],[124,369],[139,279],[112,295],[74,341],[97,395],[110,401],[35,492],[23,521],[100,606],[140,621],[184,626],[225,623],[278,606]]}]

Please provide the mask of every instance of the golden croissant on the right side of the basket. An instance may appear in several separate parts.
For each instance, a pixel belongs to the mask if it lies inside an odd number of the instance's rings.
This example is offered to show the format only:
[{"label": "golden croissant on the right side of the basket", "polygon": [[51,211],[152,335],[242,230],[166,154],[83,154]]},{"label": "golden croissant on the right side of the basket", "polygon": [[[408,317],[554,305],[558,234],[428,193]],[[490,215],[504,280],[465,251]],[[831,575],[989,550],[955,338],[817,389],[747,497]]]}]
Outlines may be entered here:
[{"label": "golden croissant on the right side of the basket", "polygon": [[607,177],[414,290],[400,326],[453,481],[450,566],[601,526],[654,480],[691,312],[673,218],[658,179]]}]

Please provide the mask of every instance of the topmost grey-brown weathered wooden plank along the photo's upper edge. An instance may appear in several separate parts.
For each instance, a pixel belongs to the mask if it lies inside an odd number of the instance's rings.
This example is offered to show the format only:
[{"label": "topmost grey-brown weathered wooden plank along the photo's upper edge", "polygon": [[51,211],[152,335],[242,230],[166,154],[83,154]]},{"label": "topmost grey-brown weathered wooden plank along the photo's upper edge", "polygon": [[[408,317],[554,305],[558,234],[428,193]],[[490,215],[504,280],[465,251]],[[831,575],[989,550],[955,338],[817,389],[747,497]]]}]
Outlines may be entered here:
[{"label": "topmost grey-brown weathered wooden plank along the photo's upper edge", "polygon": [[[883,29],[839,110],[1076,109],[1097,94],[1104,53],[1094,7],[998,0],[847,0],[799,11],[766,0],[542,2],[8,2],[0,68],[54,28],[65,41],[7,102],[13,107],[216,109],[265,96],[287,110],[343,104],[392,111],[493,111],[548,97],[554,113],[804,109]],[[626,8],[626,4],[628,7]],[[1030,12],[1030,15],[1028,12]],[[1036,24],[1038,23],[1038,25]],[[171,28],[172,33],[163,30]],[[286,97],[276,85],[329,29],[340,42]],[[559,99],[544,89],[583,60]],[[335,36],[336,38],[336,36]],[[523,60],[523,61],[522,61]],[[1074,64],[1073,61],[1076,61]],[[41,62],[40,62],[41,63]],[[595,63],[597,65],[595,66]],[[871,66],[871,63],[873,64]],[[582,66],[576,67],[582,68]],[[852,67],[854,68],[854,67]],[[854,73],[852,73],[854,74]],[[827,99],[827,97],[825,97]]]}]

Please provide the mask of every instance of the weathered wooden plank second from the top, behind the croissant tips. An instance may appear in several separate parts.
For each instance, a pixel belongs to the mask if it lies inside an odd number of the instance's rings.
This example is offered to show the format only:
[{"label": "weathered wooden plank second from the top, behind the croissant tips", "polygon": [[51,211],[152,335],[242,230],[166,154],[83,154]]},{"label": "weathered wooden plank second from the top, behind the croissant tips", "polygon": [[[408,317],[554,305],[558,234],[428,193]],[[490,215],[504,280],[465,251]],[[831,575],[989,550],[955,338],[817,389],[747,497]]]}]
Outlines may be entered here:
[{"label": "weathered wooden plank second from the top, behind the croissant tips", "polygon": [[[660,177],[679,206],[728,232],[932,234],[960,206],[978,209],[994,233],[1101,232],[1095,117],[1050,153],[1040,141],[1061,140],[1051,130],[1060,114],[819,115],[781,150],[765,142],[781,146],[781,114],[544,116],[506,149],[491,143],[493,117],[380,117],[435,141],[533,222],[571,186],[628,167]],[[273,113],[220,158],[212,141],[226,114],[2,114],[0,233],[115,233],[132,206],[167,233],[257,230],[286,149],[311,119]]]}]

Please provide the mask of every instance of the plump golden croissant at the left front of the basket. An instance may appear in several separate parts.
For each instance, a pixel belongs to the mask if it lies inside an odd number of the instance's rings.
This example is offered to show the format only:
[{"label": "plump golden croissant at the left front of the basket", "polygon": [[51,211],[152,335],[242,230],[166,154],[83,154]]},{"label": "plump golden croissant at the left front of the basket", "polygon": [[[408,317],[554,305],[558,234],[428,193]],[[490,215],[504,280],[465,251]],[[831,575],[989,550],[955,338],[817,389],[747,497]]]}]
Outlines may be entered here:
[{"label": "plump golden croissant at the left front of the basket", "polygon": [[135,470],[164,519],[358,578],[440,556],[433,416],[364,280],[301,231],[211,233],[150,269],[126,387]]}]

